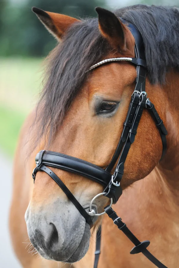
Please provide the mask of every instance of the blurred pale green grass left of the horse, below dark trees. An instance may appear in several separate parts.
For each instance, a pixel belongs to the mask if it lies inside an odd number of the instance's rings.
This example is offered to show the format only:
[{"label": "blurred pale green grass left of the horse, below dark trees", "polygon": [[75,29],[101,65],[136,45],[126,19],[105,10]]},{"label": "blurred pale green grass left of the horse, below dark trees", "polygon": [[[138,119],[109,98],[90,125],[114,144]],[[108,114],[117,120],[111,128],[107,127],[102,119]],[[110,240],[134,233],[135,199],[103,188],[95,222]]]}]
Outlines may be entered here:
[{"label": "blurred pale green grass left of the horse, below dark trees", "polygon": [[38,98],[41,62],[0,58],[0,148],[10,156],[15,151],[21,125]]}]

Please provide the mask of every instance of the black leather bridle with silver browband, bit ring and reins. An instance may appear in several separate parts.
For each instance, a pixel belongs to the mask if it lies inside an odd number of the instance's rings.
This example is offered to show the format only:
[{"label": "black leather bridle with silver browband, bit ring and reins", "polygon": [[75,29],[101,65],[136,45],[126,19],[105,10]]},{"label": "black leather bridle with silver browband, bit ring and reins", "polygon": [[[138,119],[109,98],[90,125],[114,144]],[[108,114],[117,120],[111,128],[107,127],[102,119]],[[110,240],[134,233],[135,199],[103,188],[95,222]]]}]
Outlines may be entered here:
[{"label": "black leather bridle with silver browband, bit ring and reins", "polygon": [[[122,20],[124,21],[124,20]],[[132,93],[131,101],[129,104],[129,109],[127,112],[126,120],[124,122],[124,128],[122,131],[121,138],[119,140],[118,146],[115,150],[115,153],[112,157],[107,168],[104,170],[99,166],[96,166],[90,162],[84,161],[79,158],[75,158],[69,155],[61,154],[58,152],[45,151],[41,150],[36,155],[36,167],[33,170],[33,179],[35,182],[36,173],[38,171],[46,172],[64,191],[67,197],[71,200],[71,202],[75,205],[81,215],[86,219],[86,222],[92,227],[92,216],[100,216],[105,212],[108,214],[110,218],[113,219],[114,223],[118,226],[120,230],[122,230],[126,236],[135,244],[135,247],[131,250],[131,254],[136,254],[142,252],[150,261],[152,261],[157,267],[164,268],[166,267],[160,261],[158,261],[149,251],[146,249],[149,245],[149,241],[140,242],[126,227],[126,224],[121,221],[121,218],[117,216],[115,211],[111,208],[112,203],[115,204],[119,197],[122,194],[122,188],[120,186],[120,182],[124,173],[124,163],[129,152],[131,144],[135,140],[135,135],[137,133],[137,128],[139,121],[142,116],[142,112],[144,109],[147,109],[151,114],[153,120],[155,121],[156,126],[158,127],[159,133],[161,135],[162,141],[162,156],[166,152],[166,135],[167,131],[158,115],[155,106],[152,102],[147,98],[147,94],[145,92],[145,80],[146,80],[146,61],[144,56],[144,46],[143,39],[138,31],[134,27],[134,25],[128,23],[128,27],[132,32],[135,38],[135,58],[128,57],[119,57],[119,58],[110,58],[102,60],[93,66],[90,67],[88,71],[91,71],[98,66],[103,64],[107,64],[109,62],[117,62],[117,61],[128,61],[131,64],[136,66],[137,78],[135,90]],[[118,159],[119,158],[119,159]],[[118,160],[118,162],[117,162]],[[115,171],[111,174],[113,167],[116,165]],[[70,192],[70,190],[65,186],[65,184],[61,181],[61,179],[49,168],[54,167],[57,169],[63,169],[68,172],[76,173],[83,177],[87,177],[97,183],[100,183],[104,187],[103,193],[97,194],[90,203],[90,210],[87,211],[81,206],[78,200],[74,197],[74,195]],[[104,212],[101,214],[97,214],[95,209],[92,207],[93,201],[100,195],[104,195],[111,200],[110,205],[104,208]],[[101,226],[97,232],[97,242],[96,242],[96,252],[95,252],[95,264],[94,267],[98,265],[98,258],[100,254],[100,234],[101,234]]]}]

